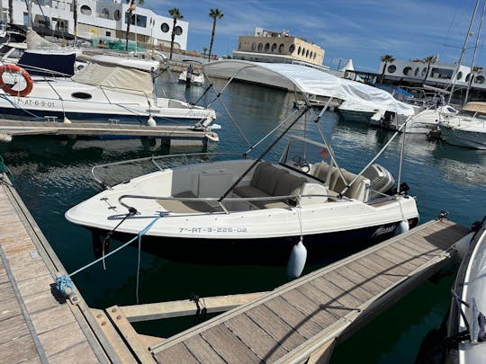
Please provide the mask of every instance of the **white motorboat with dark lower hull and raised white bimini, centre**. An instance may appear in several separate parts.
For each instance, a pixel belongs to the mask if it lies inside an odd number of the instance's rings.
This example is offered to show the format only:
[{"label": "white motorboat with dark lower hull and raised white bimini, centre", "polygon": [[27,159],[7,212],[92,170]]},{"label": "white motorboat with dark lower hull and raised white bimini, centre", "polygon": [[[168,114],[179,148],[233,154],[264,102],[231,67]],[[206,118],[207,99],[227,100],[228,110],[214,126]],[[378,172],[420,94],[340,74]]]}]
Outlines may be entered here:
[{"label": "white motorboat with dark lower hull and raised white bimini, centre", "polygon": [[[225,60],[211,62],[203,70],[229,78],[238,73],[272,78],[306,100],[310,94],[329,97],[327,107],[333,97],[362,102],[368,97],[349,84],[342,87],[338,77],[298,65]],[[311,126],[320,130],[327,107],[305,130]],[[338,167],[338,156],[323,137],[315,141],[293,134],[279,163],[263,161],[313,110],[306,104],[293,111],[273,131],[284,128],[284,132],[254,159],[246,157],[254,146],[232,160],[204,155],[181,165],[179,157],[178,164],[161,166],[157,158],[166,160],[170,155],[150,158],[157,172],[108,188],[69,209],[66,218],[92,230],[95,246],[104,244],[107,234],[125,241],[144,231],[142,248],[149,252],[177,261],[220,264],[284,263],[293,246],[302,244],[301,237],[309,260],[319,260],[333,249],[374,244],[416,226],[415,199],[403,191],[400,181],[398,191],[391,189],[390,174],[374,165],[386,146],[361,173]],[[94,168],[94,177],[102,182],[99,171]]]}]

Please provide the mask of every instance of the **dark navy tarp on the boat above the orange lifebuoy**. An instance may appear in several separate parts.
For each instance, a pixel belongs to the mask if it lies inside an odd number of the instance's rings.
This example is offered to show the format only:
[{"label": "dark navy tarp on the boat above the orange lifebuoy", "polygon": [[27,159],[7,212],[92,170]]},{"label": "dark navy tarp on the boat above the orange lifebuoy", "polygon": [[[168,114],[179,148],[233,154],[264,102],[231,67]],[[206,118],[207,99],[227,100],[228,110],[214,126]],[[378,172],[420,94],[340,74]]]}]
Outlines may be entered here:
[{"label": "dark navy tarp on the boat above the orange lifebuoy", "polygon": [[74,75],[76,54],[23,52],[18,64],[31,75]]}]

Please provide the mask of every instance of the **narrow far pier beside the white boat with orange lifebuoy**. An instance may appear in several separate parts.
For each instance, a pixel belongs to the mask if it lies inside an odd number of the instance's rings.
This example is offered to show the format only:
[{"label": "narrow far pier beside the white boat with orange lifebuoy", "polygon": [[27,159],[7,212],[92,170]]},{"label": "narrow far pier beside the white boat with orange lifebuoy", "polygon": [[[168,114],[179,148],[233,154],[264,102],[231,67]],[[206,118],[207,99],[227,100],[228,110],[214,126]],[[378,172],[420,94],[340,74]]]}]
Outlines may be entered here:
[{"label": "narrow far pier beside the white boat with orange lifebuoy", "polygon": [[193,129],[187,125],[159,125],[148,127],[146,125],[112,123],[65,123],[58,121],[15,121],[0,120],[0,138],[10,141],[15,136],[25,135],[53,135],[53,136],[81,136],[98,137],[152,137],[167,140],[200,141],[206,145],[209,140],[218,139],[218,135],[210,129]]}]

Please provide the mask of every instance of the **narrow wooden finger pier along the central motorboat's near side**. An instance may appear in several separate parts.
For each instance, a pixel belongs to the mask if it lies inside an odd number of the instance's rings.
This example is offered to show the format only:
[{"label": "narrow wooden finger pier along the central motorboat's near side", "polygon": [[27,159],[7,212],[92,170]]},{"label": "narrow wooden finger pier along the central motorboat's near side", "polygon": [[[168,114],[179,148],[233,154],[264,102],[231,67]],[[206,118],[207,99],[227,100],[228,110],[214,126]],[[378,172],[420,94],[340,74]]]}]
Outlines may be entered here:
[{"label": "narrow wooden finger pier along the central motorboat's near side", "polygon": [[157,362],[325,360],[338,338],[343,340],[442,267],[455,253],[451,245],[467,232],[450,221],[428,222],[150,350]]}]

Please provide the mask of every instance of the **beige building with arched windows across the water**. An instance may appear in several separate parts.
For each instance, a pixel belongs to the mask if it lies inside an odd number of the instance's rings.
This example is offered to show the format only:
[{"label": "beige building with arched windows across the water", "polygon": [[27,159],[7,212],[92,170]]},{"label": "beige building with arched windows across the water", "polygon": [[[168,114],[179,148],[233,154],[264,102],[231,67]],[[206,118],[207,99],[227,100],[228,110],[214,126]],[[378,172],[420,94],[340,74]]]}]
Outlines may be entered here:
[{"label": "beige building with arched windows across the water", "polygon": [[324,49],[317,44],[289,35],[287,31],[266,31],[256,28],[253,35],[238,38],[238,49],[233,58],[257,62],[299,63],[304,66],[329,69],[322,66]]}]

